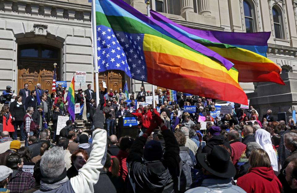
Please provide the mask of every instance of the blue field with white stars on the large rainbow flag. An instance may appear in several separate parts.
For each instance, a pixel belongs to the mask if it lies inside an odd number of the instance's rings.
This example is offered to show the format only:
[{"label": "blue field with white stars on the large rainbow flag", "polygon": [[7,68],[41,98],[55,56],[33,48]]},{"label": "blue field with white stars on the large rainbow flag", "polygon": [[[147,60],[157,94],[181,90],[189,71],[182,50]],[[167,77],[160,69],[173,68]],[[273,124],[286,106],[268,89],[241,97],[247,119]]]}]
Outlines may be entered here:
[{"label": "blue field with white stars on the large rainbow flag", "polygon": [[143,34],[130,34],[97,26],[98,71],[122,70],[129,77],[146,81]]}]

